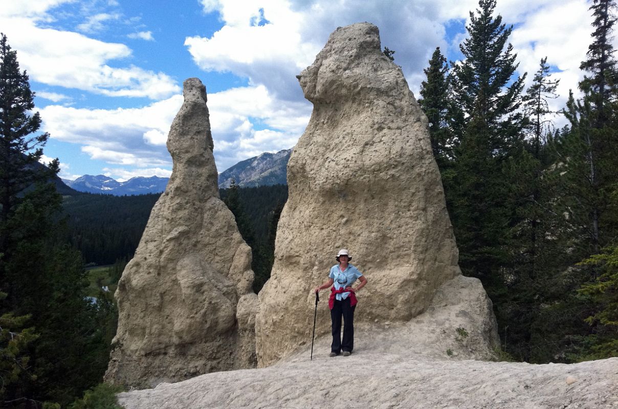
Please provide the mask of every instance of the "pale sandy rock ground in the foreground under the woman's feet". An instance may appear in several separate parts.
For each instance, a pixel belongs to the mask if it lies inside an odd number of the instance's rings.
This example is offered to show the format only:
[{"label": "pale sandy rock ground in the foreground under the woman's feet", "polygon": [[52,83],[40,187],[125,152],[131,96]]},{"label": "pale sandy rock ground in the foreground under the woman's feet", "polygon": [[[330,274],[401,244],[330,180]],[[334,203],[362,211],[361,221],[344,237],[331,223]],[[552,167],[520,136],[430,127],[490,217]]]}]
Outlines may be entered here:
[{"label": "pale sandy rock ground in the foreground under the woman's feet", "polygon": [[311,361],[307,347],[268,368],[160,384],[122,393],[119,402],[127,409],[618,408],[618,358],[574,365],[458,361],[407,355],[398,342],[358,335],[348,357],[329,358],[322,337]]}]

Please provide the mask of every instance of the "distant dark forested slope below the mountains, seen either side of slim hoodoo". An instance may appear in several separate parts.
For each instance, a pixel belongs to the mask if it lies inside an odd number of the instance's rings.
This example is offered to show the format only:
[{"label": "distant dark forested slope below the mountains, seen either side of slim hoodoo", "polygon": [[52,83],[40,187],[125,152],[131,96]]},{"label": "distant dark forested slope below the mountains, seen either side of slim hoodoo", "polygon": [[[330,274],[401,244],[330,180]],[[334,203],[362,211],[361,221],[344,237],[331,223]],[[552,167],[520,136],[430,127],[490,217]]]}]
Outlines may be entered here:
[{"label": "distant dark forested slope below the mountains, seen either side of slim hoodoo", "polygon": [[[253,249],[256,290],[268,279],[268,261],[274,251],[278,214],[287,200],[287,186],[220,189],[222,200],[232,209],[239,230]],[[66,217],[66,240],[77,248],[85,262],[114,264],[133,257],[158,200],[158,194],[112,196],[78,193],[64,196],[62,213]]]}]

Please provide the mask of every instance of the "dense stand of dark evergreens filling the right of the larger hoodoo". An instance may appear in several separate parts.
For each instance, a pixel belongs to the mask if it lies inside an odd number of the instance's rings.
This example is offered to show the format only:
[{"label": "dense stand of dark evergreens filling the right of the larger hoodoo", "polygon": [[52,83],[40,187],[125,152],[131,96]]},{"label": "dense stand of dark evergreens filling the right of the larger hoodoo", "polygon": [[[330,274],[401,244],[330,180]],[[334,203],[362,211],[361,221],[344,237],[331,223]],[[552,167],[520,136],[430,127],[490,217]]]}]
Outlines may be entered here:
[{"label": "dense stand of dark evergreens filling the right of the larger hoodoo", "polygon": [[[483,282],[516,360],[618,356],[616,4],[593,1],[583,96],[558,111],[551,56],[524,90],[495,7],[470,13],[463,61],[436,49],[420,91],[460,266]],[[559,115],[569,126],[555,129]]]}]

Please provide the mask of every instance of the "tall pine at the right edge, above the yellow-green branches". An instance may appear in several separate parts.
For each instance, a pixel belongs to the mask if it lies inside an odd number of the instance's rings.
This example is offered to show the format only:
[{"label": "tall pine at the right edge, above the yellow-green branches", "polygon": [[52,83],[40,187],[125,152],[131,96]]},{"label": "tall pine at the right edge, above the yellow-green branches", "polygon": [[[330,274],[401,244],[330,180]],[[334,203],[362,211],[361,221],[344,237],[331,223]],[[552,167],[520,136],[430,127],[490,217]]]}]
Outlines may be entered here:
[{"label": "tall pine at the right edge, above the yellow-green branches", "polygon": [[590,246],[580,252],[583,257],[598,253],[613,237],[616,226],[604,224],[603,218],[610,205],[608,192],[618,177],[615,154],[618,75],[611,43],[616,4],[595,0],[590,9],[595,17],[594,40],[581,68],[591,76],[586,75],[580,82],[583,98],[578,101],[573,96],[569,98],[564,114],[571,124],[571,132],[559,141],[564,174],[562,206],[572,216],[572,228],[589,239],[585,242]]}]

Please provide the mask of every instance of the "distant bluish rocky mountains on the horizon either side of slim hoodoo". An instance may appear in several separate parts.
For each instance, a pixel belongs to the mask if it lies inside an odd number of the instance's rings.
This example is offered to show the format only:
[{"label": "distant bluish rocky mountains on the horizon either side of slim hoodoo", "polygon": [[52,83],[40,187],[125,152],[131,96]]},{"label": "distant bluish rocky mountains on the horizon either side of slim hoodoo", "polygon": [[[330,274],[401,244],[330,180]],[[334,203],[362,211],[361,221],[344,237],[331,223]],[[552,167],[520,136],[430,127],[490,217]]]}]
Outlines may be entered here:
[{"label": "distant bluish rocky mountains on the horizon either side of slim hoodoo", "polygon": [[[228,188],[232,179],[240,187],[257,187],[287,184],[287,161],[291,149],[277,153],[265,152],[254,158],[238,162],[219,174],[219,188]],[[62,179],[68,187],[78,192],[104,193],[107,195],[144,195],[165,190],[168,177],[132,177],[119,182],[105,175],[83,175],[75,180]]]}]

